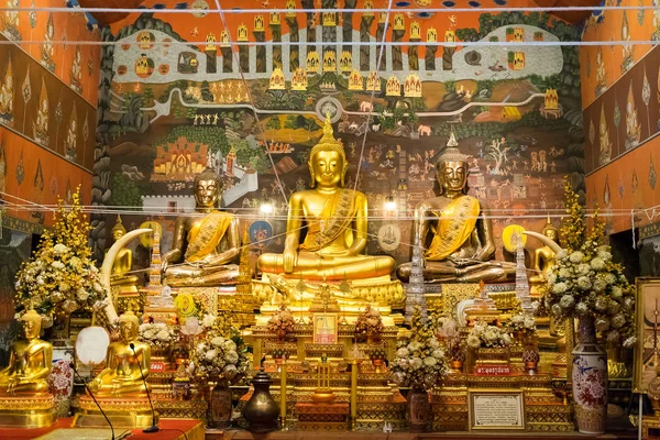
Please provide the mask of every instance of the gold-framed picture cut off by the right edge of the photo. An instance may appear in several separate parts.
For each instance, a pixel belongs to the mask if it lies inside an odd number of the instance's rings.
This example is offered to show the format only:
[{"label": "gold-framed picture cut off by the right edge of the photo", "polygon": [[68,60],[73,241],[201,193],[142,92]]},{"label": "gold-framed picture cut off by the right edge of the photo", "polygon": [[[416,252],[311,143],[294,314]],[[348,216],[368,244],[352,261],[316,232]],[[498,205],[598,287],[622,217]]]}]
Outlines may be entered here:
[{"label": "gold-framed picture cut off by the right edge of the photo", "polygon": [[660,278],[637,278],[632,392],[646,394],[660,363]]}]

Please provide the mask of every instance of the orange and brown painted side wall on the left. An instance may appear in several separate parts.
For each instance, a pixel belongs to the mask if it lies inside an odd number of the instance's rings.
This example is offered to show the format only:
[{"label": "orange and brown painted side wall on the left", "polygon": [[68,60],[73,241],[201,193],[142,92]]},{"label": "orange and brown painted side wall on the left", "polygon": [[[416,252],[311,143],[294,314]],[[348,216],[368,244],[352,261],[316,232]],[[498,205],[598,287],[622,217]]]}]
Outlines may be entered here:
[{"label": "orange and brown painted side wall on the left", "polygon": [[0,365],[19,330],[14,275],[52,221],[51,211],[31,204],[53,207],[78,186],[82,204],[91,201],[100,47],[84,43],[99,37],[82,13],[0,12]]}]

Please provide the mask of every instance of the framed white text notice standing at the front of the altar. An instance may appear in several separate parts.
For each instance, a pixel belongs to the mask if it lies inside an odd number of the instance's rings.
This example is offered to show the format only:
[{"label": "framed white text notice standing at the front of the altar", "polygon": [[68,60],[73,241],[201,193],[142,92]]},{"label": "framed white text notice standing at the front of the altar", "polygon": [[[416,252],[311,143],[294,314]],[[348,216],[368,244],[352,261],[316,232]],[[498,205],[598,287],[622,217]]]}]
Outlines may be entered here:
[{"label": "framed white text notice standing at the front of the altar", "polygon": [[525,396],[520,389],[469,389],[470,430],[525,429]]}]

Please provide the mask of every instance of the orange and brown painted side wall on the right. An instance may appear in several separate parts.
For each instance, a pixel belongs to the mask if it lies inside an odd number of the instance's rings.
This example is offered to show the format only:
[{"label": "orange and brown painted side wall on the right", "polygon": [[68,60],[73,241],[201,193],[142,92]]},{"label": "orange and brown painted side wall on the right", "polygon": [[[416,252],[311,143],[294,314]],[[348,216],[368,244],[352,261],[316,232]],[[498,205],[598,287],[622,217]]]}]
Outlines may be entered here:
[{"label": "orange and brown painted side wall on the right", "polygon": [[[638,3],[623,1],[622,6]],[[606,11],[587,21],[583,38],[658,41],[660,11]],[[631,228],[630,210],[660,202],[658,51],[650,45],[607,44],[580,50],[587,202],[624,211],[607,218],[612,233]],[[635,217],[636,228],[658,222],[651,209],[647,213]]]}]

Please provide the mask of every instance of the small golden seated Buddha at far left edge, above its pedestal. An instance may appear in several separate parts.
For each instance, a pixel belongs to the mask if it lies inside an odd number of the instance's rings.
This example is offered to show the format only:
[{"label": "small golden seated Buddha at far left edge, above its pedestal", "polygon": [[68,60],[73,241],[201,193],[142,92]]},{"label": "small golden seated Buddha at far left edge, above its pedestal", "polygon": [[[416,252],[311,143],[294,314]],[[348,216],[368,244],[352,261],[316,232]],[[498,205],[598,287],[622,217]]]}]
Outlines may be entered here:
[{"label": "small golden seated Buddha at far left edge, above its pedestal", "polygon": [[0,370],[0,393],[48,393],[53,345],[38,339],[42,318],[36,311],[29,310],[21,321],[25,339],[11,345],[9,366]]}]

